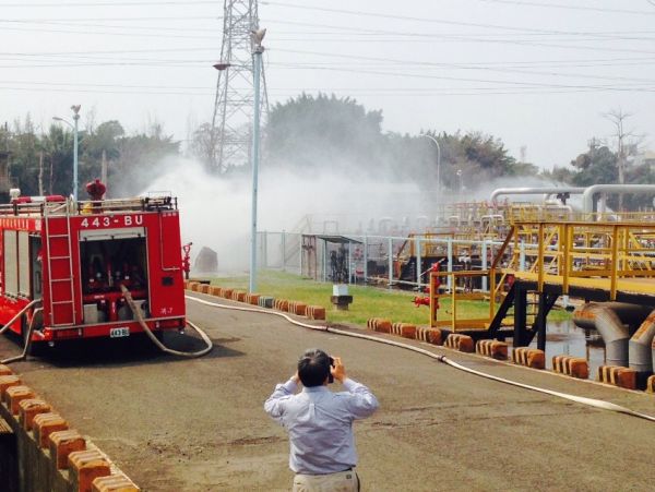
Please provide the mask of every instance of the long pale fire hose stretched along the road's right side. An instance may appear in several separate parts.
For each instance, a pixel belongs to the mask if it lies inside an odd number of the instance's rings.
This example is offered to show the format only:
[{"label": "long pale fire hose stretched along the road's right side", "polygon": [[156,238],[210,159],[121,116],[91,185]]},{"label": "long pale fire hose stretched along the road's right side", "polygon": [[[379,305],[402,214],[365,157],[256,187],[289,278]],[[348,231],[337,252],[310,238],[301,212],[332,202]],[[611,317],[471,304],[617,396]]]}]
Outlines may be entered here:
[{"label": "long pale fire hose stretched along the road's right side", "polygon": [[190,301],[194,301],[194,302],[199,302],[201,304],[206,304],[206,305],[211,305],[214,308],[221,308],[221,309],[228,309],[228,310],[234,310],[234,311],[247,311],[247,312],[253,312],[253,313],[264,313],[264,314],[273,314],[276,316],[281,316],[284,317],[285,320],[287,320],[288,322],[297,325],[297,326],[301,326],[303,328],[309,328],[309,329],[315,329],[319,332],[327,332],[327,333],[334,333],[336,335],[344,335],[344,336],[349,336],[349,337],[354,337],[354,338],[361,338],[365,340],[371,340],[371,341],[377,341],[380,344],[386,344],[386,345],[392,345],[394,347],[400,347],[400,348],[404,348],[406,350],[412,350],[414,352],[417,353],[421,353],[424,356],[430,357],[431,359],[436,359],[439,362],[442,362],[444,364],[448,364],[454,369],[457,369],[460,371],[464,371],[464,372],[468,372],[469,374],[475,374],[481,377],[486,377],[488,380],[492,380],[492,381],[498,381],[499,383],[503,383],[503,384],[509,384],[512,386],[517,386],[524,389],[529,389],[533,392],[538,392],[538,393],[543,393],[546,395],[550,395],[550,396],[556,396],[558,398],[563,398],[563,399],[568,399],[571,401],[575,401],[582,405],[587,405],[590,407],[594,407],[594,408],[599,408],[602,410],[609,410],[609,411],[616,411],[619,413],[624,413],[631,417],[639,417],[640,419],[645,419],[645,420],[650,420],[651,422],[655,422],[655,417],[653,416],[648,416],[646,413],[641,413],[639,411],[634,411],[631,410],[629,408],[626,407],[621,407],[620,405],[616,405],[609,401],[605,401],[602,399],[595,399],[595,398],[586,398],[584,396],[576,396],[576,395],[570,395],[568,393],[561,393],[561,392],[556,392],[552,389],[546,389],[546,388],[541,388],[538,386],[532,386],[529,384],[524,384],[524,383],[519,383],[516,381],[512,381],[512,380],[507,380],[504,377],[499,377],[499,376],[495,376],[492,374],[488,374],[486,372],[481,372],[481,371],[476,371],[475,369],[471,369],[467,368],[465,365],[462,365],[451,359],[449,359],[445,356],[441,356],[438,353],[433,353],[429,350],[419,348],[419,347],[415,347],[413,345],[408,345],[408,344],[403,344],[402,341],[394,341],[394,340],[388,340],[384,338],[378,338],[371,335],[364,335],[364,334],[359,334],[359,333],[353,333],[353,332],[346,332],[343,329],[337,329],[337,328],[331,328],[329,326],[321,326],[321,325],[311,325],[308,323],[302,323],[299,322],[297,320],[294,320],[291,316],[282,313],[282,312],[277,312],[277,311],[271,311],[271,310],[263,310],[263,309],[255,309],[255,308],[241,308],[241,307],[237,307],[237,305],[227,305],[227,304],[221,304],[217,302],[210,302],[206,301],[204,299],[199,299],[196,297],[192,297],[192,296],[184,296],[188,300]]}]

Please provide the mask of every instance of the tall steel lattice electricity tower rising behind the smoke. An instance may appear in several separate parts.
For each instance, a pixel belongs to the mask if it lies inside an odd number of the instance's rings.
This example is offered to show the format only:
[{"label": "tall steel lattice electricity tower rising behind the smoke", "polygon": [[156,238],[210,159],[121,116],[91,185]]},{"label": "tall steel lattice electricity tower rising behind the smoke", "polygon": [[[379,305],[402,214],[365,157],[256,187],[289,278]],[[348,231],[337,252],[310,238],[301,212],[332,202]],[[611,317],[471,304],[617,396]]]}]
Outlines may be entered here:
[{"label": "tall steel lattice electricity tower rising behind the smoke", "polygon": [[[218,172],[250,163],[254,113],[251,33],[259,28],[257,0],[225,0],[223,10],[223,45],[221,61],[214,65],[218,81],[210,135],[210,161]],[[260,111],[265,120],[269,97],[263,67],[261,76]]]}]

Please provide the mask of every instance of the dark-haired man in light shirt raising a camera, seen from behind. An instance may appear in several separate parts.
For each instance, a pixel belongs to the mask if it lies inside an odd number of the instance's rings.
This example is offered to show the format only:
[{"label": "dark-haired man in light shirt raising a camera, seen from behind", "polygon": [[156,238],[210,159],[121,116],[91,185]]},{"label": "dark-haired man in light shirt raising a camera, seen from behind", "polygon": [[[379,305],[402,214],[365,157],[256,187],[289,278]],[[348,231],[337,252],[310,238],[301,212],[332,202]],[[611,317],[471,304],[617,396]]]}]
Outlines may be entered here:
[{"label": "dark-haired man in light shirt raising a camera, seen from behind", "polygon": [[[332,393],[332,377],[346,392]],[[299,382],[305,388],[295,394]],[[319,349],[305,352],[296,374],[278,384],[264,404],[266,413],[289,433],[294,492],[359,490],[353,421],[369,417],[378,406],[368,387],[346,376],[341,358]]]}]

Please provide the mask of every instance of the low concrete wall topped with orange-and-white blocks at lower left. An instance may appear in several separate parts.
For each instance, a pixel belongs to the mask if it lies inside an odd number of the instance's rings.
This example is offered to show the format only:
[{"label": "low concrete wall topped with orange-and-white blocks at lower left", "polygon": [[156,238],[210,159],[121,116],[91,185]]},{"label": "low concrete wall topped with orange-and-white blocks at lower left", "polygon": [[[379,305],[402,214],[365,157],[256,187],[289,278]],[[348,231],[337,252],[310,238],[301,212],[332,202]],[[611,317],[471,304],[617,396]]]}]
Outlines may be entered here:
[{"label": "low concrete wall topped with orange-and-white blocks at lower left", "polygon": [[[0,370],[3,374],[0,421],[7,422],[14,435],[21,480],[14,483],[12,477],[0,477],[0,490],[5,490],[4,487],[57,492],[140,490],[102,451],[69,429],[69,423],[9,368],[0,365]],[[109,485],[92,489],[98,477],[108,477]],[[111,477],[117,479],[109,480]],[[112,487],[114,483],[118,487]]]}]

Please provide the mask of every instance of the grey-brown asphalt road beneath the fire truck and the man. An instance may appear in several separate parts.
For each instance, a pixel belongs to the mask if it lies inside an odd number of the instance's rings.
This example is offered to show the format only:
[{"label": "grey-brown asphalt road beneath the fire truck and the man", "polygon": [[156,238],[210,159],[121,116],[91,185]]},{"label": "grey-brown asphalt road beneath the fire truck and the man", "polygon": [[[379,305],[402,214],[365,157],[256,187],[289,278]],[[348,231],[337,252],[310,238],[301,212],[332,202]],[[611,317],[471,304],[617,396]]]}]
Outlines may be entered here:
[{"label": "grey-brown asphalt road beneath the fire truck and the man", "polygon": [[[160,355],[133,337],[60,348],[14,370],[145,491],[289,490],[286,434],[262,405],[309,347],[341,356],[348,375],[380,400],[372,418],[356,423],[362,490],[653,490],[653,422],[277,316],[194,302],[188,313],[215,344],[204,358]],[[177,334],[165,341],[201,345]],[[655,415],[653,395],[419,346],[496,375]],[[0,357],[17,351],[0,337]]]}]

